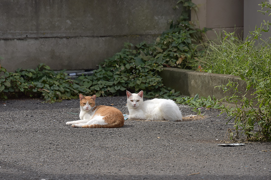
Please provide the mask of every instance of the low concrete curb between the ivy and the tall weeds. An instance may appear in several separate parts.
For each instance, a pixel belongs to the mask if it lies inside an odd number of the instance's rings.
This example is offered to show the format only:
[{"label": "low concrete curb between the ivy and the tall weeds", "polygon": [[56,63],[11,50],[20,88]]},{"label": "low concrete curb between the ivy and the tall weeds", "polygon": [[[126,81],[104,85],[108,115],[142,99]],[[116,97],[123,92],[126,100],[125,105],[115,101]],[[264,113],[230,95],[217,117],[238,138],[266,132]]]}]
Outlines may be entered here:
[{"label": "low concrete curb between the ivy and the tall weeds", "polygon": [[[238,82],[238,91],[244,95],[246,91],[246,83],[238,76],[226,75],[226,74],[214,74],[197,72],[193,70],[185,70],[172,67],[164,67],[160,76],[163,78],[165,86],[180,91],[182,95],[193,97],[196,94],[203,97],[216,97],[216,99],[222,99],[225,96],[231,96],[232,94],[227,91],[224,93],[222,89],[214,88],[218,85],[226,85],[229,81]],[[252,99],[251,95],[255,90],[250,89],[247,98]]]}]

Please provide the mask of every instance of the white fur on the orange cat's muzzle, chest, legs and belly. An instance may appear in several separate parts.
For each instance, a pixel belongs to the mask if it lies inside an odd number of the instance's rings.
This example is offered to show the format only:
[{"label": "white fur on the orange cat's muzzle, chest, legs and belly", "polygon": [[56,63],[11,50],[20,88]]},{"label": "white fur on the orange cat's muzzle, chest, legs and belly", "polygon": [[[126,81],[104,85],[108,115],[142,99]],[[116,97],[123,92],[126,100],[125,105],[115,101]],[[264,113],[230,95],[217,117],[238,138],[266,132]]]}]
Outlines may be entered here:
[{"label": "white fur on the orange cat's muzzle, chest, legs and belly", "polygon": [[92,108],[86,103],[83,107],[80,106],[80,120],[66,122],[66,125],[72,125],[73,128],[81,128],[83,125],[106,125],[104,116],[94,115],[95,111],[92,111]]}]

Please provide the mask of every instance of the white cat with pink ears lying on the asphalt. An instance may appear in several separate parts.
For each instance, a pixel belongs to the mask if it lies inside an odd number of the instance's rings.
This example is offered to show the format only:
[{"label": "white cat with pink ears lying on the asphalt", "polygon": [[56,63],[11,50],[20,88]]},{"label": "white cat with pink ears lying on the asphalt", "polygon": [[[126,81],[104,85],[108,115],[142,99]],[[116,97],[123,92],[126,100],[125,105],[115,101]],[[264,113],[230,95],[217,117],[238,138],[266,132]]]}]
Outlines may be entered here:
[{"label": "white cat with pink ears lying on the asphalt", "polygon": [[126,91],[129,119],[182,121],[182,113],[170,99],[143,101],[143,91],[138,94]]}]

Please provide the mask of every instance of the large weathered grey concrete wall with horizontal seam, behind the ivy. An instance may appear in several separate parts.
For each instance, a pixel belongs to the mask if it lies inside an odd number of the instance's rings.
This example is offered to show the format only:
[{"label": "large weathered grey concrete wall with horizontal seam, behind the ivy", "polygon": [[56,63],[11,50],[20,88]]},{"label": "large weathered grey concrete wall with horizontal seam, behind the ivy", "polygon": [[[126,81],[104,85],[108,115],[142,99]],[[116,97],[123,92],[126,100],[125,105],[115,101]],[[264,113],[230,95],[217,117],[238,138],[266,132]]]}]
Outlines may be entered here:
[{"label": "large weathered grey concrete wall with horizontal seam, behind the ivy", "polygon": [[93,69],[124,42],[153,42],[177,19],[177,0],[0,1],[0,57],[8,71]]}]

